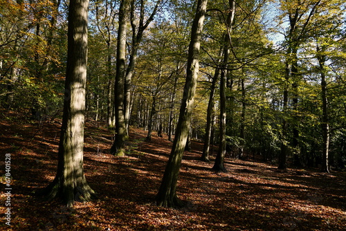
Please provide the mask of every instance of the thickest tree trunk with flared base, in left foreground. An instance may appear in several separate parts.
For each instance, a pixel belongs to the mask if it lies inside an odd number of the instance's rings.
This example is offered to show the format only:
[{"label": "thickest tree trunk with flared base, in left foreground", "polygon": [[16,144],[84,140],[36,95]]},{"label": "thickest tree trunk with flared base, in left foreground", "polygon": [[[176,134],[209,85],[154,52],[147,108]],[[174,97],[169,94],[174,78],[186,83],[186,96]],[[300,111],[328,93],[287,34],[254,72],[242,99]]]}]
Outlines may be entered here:
[{"label": "thickest tree trunk with flared base, in left foreground", "polygon": [[95,197],[83,169],[88,5],[88,0],[70,1],[59,161],[54,181],[43,190],[46,198],[61,197],[69,207],[75,200],[89,201]]}]

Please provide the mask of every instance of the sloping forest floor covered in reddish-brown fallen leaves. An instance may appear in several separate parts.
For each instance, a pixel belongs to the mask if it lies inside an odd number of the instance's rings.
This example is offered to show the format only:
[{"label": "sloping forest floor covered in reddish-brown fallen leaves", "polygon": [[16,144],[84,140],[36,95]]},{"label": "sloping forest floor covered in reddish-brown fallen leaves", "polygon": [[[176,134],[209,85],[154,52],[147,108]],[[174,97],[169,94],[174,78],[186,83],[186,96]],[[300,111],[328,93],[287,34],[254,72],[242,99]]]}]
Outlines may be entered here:
[{"label": "sloping forest floor covered in reddish-brown fallen leaves", "polygon": [[100,199],[72,209],[44,201],[34,192],[55,176],[60,120],[37,122],[13,111],[0,111],[0,118],[0,230],[346,230],[345,172],[280,172],[259,160],[226,158],[228,172],[215,173],[212,161],[198,160],[199,142],[192,142],[181,166],[177,194],[186,206],[157,207],[172,142],[155,134],[146,141],[143,129],[131,128],[127,156],[116,158],[109,154],[112,133],[92,121],[86,122],[84,171]]}]

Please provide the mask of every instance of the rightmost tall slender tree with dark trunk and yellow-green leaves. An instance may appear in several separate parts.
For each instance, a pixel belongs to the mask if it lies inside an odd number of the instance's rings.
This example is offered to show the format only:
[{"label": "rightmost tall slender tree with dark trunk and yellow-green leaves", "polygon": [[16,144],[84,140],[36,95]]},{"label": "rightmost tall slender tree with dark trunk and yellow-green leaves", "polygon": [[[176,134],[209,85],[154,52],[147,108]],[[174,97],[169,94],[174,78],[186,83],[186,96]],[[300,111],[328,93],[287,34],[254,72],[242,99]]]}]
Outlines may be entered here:
[{"label": "rightmost tall slender tree with dark trunk and yellow-green leaves", "polygon": [[[321,115],[321,127],[322,127],[322,172],[329,173],[331,165],[329,157],[329,146],[330,146],[330,115],[329,115],[329,86],[331,84],[332,75],[330,67],[327,63],[331,63],[329,59],[335,59],[339,55],[342,55],[338,44],[343,39],[343,10],[345,6],[340,1],[328,1],[326,6],[320,6],[316,10],[316,17],[314,17],[313,24],[313,40],[316,41],[316,54],[315,57],[318,61],[316,68],[320,75],[320,98],[322,104],[322,115]],[[323,24],[322,28],[318,26]],[[318,28],[318,29],[317,29]],[[340,84],[338,84],[340,87]]]}]

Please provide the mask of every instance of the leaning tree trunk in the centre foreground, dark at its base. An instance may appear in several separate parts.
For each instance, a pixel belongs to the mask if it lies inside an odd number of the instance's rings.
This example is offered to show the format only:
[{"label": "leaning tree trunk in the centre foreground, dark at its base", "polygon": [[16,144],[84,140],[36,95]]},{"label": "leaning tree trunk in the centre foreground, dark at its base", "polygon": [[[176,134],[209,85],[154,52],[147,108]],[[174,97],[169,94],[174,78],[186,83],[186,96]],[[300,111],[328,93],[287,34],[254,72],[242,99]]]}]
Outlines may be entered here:
[{"label": "leaning tree trunk in the centre foreground, dark at its base", "polygon": [[190,131],[194,93],[196,91],[197,77],[199,73],[200,39],[206,15],[207,2],[208,0],[198,0],[196,15],[192,24],[186,81],[183,99],[181,101],[179,121],[176,126],[176,135],[174,137],[170,159],[165,168],[160,189],[156,195],[156,204],[162,207],[176,207],[182,205],[181,201],[179,201],[176,196],[176,183],[178,181],[183,151]]}]

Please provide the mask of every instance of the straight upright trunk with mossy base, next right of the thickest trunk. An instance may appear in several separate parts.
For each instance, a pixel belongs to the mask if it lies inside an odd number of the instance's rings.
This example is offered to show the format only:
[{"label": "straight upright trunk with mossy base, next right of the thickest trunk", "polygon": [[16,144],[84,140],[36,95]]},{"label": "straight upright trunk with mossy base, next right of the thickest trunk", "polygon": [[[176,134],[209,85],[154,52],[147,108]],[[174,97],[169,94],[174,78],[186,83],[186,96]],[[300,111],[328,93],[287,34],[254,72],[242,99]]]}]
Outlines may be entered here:
[{"label": "straight upright trunk with mossy base, next right of the thickest trunk", "polygon": [[118,41],[116,50],[116,84],[114,107],[116,113],[116,135],[111,147],[111,154],[125,156],[125,140],[127,140],[127,127],[124,111],[124,84],[125,84],[125,58],[127,15],[129,13],[129,0],[122,0],[119,10]]}]

